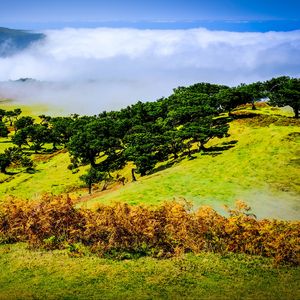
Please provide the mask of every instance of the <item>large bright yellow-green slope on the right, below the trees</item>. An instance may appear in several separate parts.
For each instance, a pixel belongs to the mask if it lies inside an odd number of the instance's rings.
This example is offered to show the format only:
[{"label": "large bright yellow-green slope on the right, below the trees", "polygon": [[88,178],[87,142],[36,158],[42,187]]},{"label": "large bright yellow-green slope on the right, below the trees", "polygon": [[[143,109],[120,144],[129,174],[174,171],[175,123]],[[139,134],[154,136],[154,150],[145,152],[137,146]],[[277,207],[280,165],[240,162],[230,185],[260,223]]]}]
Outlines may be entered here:
[{"label": "large bright yellow-green slope on the right, below the trees", "polygon": [[216,156],[216,152],[197,154],[194,160],[185,159],[89,204],[113,200],[157,204],[184,197],[220,210],[223,204],[242,199],[259,217],[298,219],[300,143],[294,133],[300,133],[300,127],[251,127],[234,121],[229,138],[210,143],[222,146],[237,141],[234,147]]}]

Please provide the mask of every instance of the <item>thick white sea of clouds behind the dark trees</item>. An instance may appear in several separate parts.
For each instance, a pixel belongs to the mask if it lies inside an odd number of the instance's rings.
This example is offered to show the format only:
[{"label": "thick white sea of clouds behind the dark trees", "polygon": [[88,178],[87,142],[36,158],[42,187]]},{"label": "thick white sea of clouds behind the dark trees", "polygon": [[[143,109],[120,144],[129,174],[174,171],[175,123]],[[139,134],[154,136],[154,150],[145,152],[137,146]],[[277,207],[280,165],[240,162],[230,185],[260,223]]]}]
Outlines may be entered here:
[{"label": "thick white sea of clouds behind the dark trees", "polygon": [[[237,85],[300,77],[300,31],[66,28],[43,33],[45,39],[0,58],[0,97],[97,114],[201,81]],[[14,82],[19,78],[36,81]]]}]

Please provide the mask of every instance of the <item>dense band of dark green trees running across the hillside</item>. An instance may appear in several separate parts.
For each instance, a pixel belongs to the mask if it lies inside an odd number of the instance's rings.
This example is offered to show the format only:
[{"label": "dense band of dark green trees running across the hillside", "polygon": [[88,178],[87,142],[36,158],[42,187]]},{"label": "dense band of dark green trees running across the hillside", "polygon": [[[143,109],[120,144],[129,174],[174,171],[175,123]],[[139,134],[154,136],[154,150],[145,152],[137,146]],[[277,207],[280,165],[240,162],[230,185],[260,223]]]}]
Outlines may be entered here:
[{"label": "dense band of dark green trees running across the hillside", "polygon": [[241,104],[268,97],[272,104],[290,105],[299,117],[299,79],[278,77],[266,82],[241,84],[237,87],[198,83],[178,87],[168,98],[155,102],[137,102],[119,111],[97,116],[40,116],[35,122],[20,111],[0,110],[0,136],[7,136],[7,125],[13,126],[12,142],[19,151],[30,147],[40,151],[44,144],[53,149],[64,147],[70,153],[70,169],[90,165],[82,180],[89,188],[94,182],[111,177],[128,161],[135,164],[132,172],[141,176],[151,172],[160,161],[177,159],[179,154],[191,156],[192,145],[205,151],[214,137],[228,134],[230,117],[223,112]]}]

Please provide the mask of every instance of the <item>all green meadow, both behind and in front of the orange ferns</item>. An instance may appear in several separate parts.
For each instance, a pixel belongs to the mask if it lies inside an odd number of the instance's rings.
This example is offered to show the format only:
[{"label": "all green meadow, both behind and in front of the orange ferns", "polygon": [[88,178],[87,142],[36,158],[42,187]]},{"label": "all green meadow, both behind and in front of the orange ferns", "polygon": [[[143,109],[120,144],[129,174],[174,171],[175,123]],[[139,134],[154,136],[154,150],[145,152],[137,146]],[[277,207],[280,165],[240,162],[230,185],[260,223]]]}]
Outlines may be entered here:
[{"label": "all green meadow, both behind and in front of the orange ferns", "polygon": [[[6,104],[11,105],[11,104]],[[6,106],[7,109],[8,106]],[[13,107],[13,106],[12,106]],[[40,110],[41,109],[41,110]],[[42,108],[22,107],[37,116]],[[46,109],[45,109],[46,110]],[[249,113],[243,108],[236,113]],[[298,220],[300,214],[300,124],[287,109],[259,106],[254,117],[230,123],[230,136],[215,138],[193,159],[179,158],[131,180],[132,165],[119,174],[125,185],[101,184],[88,195],[79,172],[68,170],[63,149],[32,154],[34,173],[9,168],[0,174],[0,199],[31,201],[43,193],[69,193],[90,208],[114,201],[157,205],[186,199],[194,207],[210,205],[223,212],[237,199],[259,218]],[[259,117],[260,116],[260,117]],[[11,147],[0,139],[0,153]],[[236,254],[185,254],[172,259],[144,257],[116,261],[83,250],[42,251],[26,244],[0,246],[0,299],[298,299],[300,269],[274,265],[272,259]]]}]

